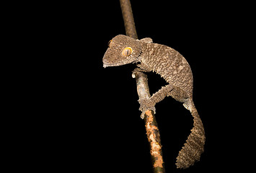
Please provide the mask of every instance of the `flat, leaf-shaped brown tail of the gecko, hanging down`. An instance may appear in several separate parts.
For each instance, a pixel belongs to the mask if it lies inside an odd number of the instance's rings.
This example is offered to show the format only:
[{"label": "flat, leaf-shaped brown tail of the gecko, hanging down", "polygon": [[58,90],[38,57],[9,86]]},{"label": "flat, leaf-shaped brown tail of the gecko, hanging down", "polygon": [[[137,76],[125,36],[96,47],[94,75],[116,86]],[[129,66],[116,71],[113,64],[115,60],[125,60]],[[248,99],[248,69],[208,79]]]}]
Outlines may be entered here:
[{"label": "flat, leaf-shaped brown tail of the gecko, hanging down", "polygon": [[184,104],[184,107],[186,107],[187,110],[190,110],[194,123],[185,145],[182,147],[179,155],[177,156],[176,166],[177,168],[182,169],[186,169],[187,167],[193,165],[195,161],[199,161],[200,155],[204,151],[204,144],[206,142],[203,123],[200,120],[198,111],[195,109],[192,99],[187,101],[188,102]]}]

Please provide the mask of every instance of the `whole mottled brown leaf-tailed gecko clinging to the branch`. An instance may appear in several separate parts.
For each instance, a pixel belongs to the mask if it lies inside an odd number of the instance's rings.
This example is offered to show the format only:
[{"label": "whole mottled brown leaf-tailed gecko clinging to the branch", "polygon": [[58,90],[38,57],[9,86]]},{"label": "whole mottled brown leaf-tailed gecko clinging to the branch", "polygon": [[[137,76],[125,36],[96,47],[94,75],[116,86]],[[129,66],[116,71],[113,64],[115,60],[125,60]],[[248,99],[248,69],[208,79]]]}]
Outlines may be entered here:
[{"label": "whole mottled brown leaf-tailed gecko clinging to the branch", "polygon": [[193,102],[193,74],[186,59],[167,45],[153,43],[150,37],[138,40],[126,35],[117,35],[109,41],[108,47],[102,59],[104,68],[136,63],[133,77],[139,72],[153,71],[167,81],[167,85],[162,86],[151,97],[138,100],[141,118],[144,118],[146,110],[156,112],[156,103],[161,102],[164,97],[171,96],[182,102],[193,116],[193,128],[179,151],[176,166],[185,169],[199,161],[204,151],[206,136]]}]

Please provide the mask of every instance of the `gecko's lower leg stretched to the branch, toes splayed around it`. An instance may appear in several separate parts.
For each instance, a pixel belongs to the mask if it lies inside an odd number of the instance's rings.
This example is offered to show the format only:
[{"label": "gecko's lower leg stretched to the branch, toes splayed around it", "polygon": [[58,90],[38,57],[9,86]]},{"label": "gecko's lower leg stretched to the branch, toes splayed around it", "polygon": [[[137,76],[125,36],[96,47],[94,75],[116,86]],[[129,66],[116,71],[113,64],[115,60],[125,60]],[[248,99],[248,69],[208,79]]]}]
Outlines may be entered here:
[{"label": "gecko's lower leg stretched to the branch, toes splayed around it", "polygon": [[144,119],[146,110],[153,110],[156,113],[156,108],[154,107],[156,103],[161,102],[164,97],[167,97],[167,94],[174,89],[172,84],[163,86],[162,89],[159,89],[158,92],[153,94],[150,98],[139,99],[138,102],[141,105],[139,110],[141,110],[141,118]]}]

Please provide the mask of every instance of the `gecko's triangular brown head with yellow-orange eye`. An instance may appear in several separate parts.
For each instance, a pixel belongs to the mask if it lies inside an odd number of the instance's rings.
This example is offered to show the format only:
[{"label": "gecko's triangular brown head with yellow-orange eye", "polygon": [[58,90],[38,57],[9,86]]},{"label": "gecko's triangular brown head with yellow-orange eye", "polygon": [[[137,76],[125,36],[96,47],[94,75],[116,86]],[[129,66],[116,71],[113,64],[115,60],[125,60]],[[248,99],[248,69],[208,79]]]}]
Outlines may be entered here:
[{"label": "gecko's triangular brown head with yellow-orange eye", "polygon": [[121,66],[141,60],[141,42],[132,37],[117,35],[108,43],[103,57],[103,67]]}]

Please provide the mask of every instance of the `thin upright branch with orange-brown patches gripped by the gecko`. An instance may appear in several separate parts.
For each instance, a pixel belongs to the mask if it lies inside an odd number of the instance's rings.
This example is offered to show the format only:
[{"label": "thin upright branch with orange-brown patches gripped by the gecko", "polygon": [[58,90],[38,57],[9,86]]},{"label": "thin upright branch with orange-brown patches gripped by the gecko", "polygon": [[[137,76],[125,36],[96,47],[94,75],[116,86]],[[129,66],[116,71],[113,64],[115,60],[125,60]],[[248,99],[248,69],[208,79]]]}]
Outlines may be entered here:
[{"label": "thin upright branch with orange-brown patches gripped by the gecko", "polygon": [[[131,9],[130,0],[120,0],[120,6],[123,14],[123,21],[125,23],[126,35],[138,38],[136,27],[133,19],[133,12]],[[136,73],[136,85],[138,98],[149,98],[149,85],[147,76],[144,73]],[[164,161],[162,157],[162,145],[160,140],[159,128],[156,123],[156,117],[154,116],[154,111],[147,110],[145,113],[145,127],[146,136],[150,145],[151,161],[154,168],[154,173],[164,173]]]}]

